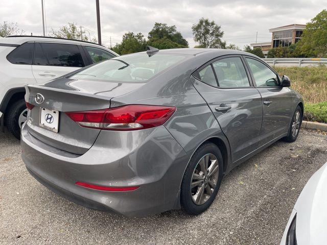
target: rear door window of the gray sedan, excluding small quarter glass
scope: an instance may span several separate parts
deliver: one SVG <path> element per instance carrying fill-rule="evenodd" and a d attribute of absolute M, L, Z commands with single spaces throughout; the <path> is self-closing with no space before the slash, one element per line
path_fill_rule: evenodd
<path fill-rule="evenodd" d="M 220 88 L 249 87 L 250 82 L 246 75 L 240 57 L 220 59 L 213 63 Z"/>

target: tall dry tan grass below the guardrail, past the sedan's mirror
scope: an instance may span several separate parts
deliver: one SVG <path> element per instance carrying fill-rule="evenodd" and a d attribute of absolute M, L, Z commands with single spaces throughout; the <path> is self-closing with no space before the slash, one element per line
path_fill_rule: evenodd
<path fill-rule="evenodd" d="M 279 75 L 291 79 L 291 88 L 302 94 L 305 103 L 327 101 L 327 66 L 279 67 Z"/>

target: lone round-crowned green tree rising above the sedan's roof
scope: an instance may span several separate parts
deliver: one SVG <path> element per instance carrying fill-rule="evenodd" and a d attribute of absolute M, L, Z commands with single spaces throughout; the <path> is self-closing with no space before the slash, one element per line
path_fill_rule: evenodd
<path fill-rule="evenodd" d="M 224 32 L 215 21 L 208 18 L 201 18 L 197 24 L 193 24 L 192 32 L 194 41 L 204 48 L 225 48 L 226 42 L 222 40 Z"/>

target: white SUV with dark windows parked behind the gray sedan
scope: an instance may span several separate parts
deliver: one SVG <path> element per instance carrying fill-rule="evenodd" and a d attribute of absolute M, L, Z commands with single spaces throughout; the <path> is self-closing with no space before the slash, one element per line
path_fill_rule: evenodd
<path fill-rule="evenodd" d="M 36 36 L 0 38 L 0 122 L 17 138 L 26 120 L 26 84 L 40 84 L 118 54 L 90 42 Z"/>

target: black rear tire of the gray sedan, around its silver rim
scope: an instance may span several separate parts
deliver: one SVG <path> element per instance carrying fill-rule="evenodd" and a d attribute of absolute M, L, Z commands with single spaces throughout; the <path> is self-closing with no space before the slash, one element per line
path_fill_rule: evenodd
<path fill-rule="evenodd" d="M 200 187 L 194 187 L 191 188 L 191 183 L 193 179 L 193 174 L 195 173 L 196 168 L 198 168 L 199 161 L 206 155 L 214 155 L 218 159 L 218 170 L 219 173 L 216 173 L 215 179 L 216 179 L 216 187 L 212 188 L 212 194 L 207 197 L 207 200 L 203 204 L 196 204 L 193 197 L 195 197 L 194 194 L 194 188 L 200 188 Z M 211 155 L 211 156 L 212 156 Z M 208 169 L 208 168 L 207 168 Z M 197 215 L 202 212 L 204 212 L 215 200 L 217 192 L 219 190 L 221 180 L 223 178 L 223 158 L 221 155 L 221 152 L 217 145 L 213 143 L 204 143 L 200 146 L 198 150 L 193 154 L 188 166 L 185 169 L 185 173 L 182 179 L 181 184 L 181 191 L 180 191 L 180 201 L 181 201 L 181 207 L 182 209 L 191 215 Z M 205 183 L 205 181 L 203 181 Z M 208 183 L 208 182 L 207 182 Z M 209 184 L 207 184 L 209 185 Z M 204 188 L 204 187 L 203 187 Z M 211 188 L 211 187 L 209 187 Z M 206 190 L 206 188 L 204 188 Z M 192 192 L 193 191 L 193 192 Z"/>

